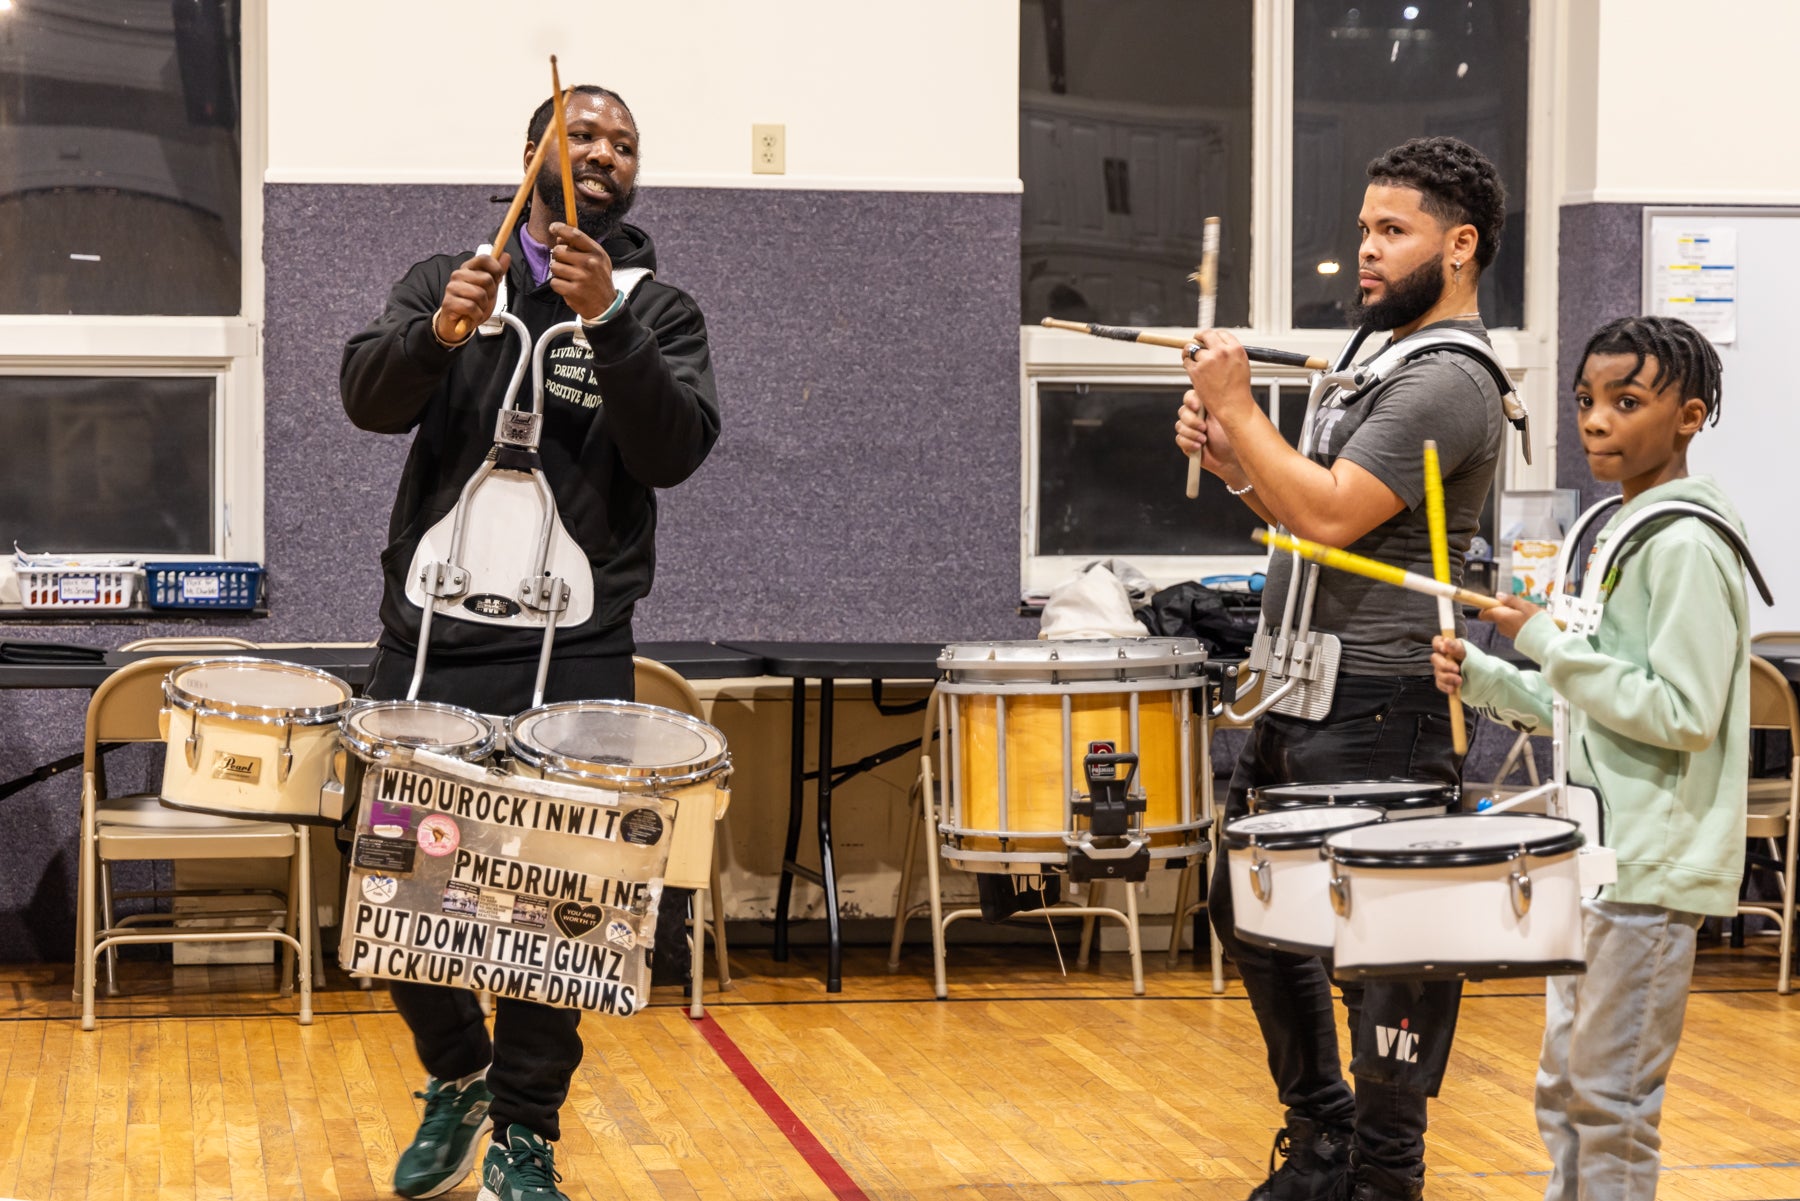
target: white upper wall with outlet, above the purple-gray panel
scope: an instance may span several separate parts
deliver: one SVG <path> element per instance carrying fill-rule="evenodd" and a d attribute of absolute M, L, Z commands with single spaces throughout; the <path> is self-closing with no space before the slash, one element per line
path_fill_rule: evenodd
<path fill-rule="evenodd" d="M 268 0 L 266 178 L 513 182 L 553 52 L 632 104 L 646 184 L 1019 187 L 1017 0 Z"/>

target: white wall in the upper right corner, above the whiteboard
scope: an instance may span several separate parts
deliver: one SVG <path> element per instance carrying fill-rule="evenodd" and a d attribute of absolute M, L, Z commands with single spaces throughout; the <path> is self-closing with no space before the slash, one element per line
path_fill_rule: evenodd
<path fill-rule="evenodd" d="M 1800 4 L 1570 4 L 1566 203 L 1800 202 Z"/>

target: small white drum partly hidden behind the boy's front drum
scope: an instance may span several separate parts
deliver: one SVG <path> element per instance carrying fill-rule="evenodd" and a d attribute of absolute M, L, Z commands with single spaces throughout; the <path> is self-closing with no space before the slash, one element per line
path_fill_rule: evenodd
<path fill-rule="evenodd" d="M 1373 805 L 1298 805 L 1226 823 L 1238 938 L 1298 954 L 1332 953 L 1328 834 L 1382 821 Z"/>

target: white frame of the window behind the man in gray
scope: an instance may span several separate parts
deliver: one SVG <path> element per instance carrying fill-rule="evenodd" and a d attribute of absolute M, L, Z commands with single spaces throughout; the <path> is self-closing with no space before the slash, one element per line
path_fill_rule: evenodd
<path fill-rule="evenodd" d="M 1510 225 L 1508 236 L 1523 236 L 1525 248 L 1525 326 L 1490 330 L 1494 349 L 1507 364 L 1519 389 L 1519 398 L 1532 411 L 1532 463 L 1525 461 L 1519 439 L 1507 434 L 1501 456 L 1499 486 L 1507 490 L 1541 490 L 1555 486 L 1557 461 L 1557 198 L 1562 164 L 1557 149 L 1561 131 L 1553 124 L 1555 95 L 1566 92 L 1566 65 L 1559 54 L 1564 43 L 1561 25 L 1564 5 L 1550 0 L 1532 4 L 1532 32 L 1528 56 L 1526 115 L 1526 185 L 1525 225 Z M 1296 330 L 1292 326 L 1292 281 L 1287 256 L 1292 241 L 1292 175 L 1294 175 L 1294 0 L 1265 0 L 1256 5 L 1253 27 L 1251 70 L 1251 230 L 1249 230 L 1249 312 L 1251 324 L 1235 328 L 1246 342 L 1278 346 L 1321 358 L 1334 357 L 1348 339 L 1339 330 Z M 1159 333 L 1183 335 L 1186 330 L 1161 328 Z M 1037 479 L 1037 441 L 1033 429 L 1033 396 L 1039 382 L 1102 378 L 1130 384 L 1161 384 L 1179 387 L 1184 380 L 1175 351 L 1132 342 L 1084 339 L 1039 326 L 1019 328 L 1019 384 L 1021 384 L 1021 479 L 1024 504 L 1021 506 L 1019 578 L 1024 592 L 1031 582 L 1062 578 L 1071 567 L 1053 556 L 1033 555 L 1033 481 Z M 1287 391 L 1296 382 L 1305 385 L 1305 373 L 1274 367 L 1256 367 L 1258 382 L 1280 382 Z M 1170 454 L 1175 454 L 1170 436 Z M 1249 513 L 1249 510 L 1246 510 Z M 1251 519 L 1255 520 L 1255 519 Z M 1138 564 L 1157 585 L 1177 583 L 1202 574 L 1231 574 L 1255 562 L 1260 569 L 1264 555 L 1246 556 L 1179 556 Z M 1062 574 L 1053 574 L 1062 569 Z M 1044 589 L 1039 587 L 1039 592 Z"/>

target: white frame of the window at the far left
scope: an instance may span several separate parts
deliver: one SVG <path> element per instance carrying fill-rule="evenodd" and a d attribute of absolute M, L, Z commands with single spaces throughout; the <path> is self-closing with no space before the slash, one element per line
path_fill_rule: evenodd
<path fill-rule="evenodd" d="M 214 376 L 212 547 L 193 560 L 265 560 L 263 173 L 268 164 L 266 0 L 241 0 L 241 303 L 232 317 L 0 313 L 0 375 Z M 29 547 L 58 553 L 58 547 Z M 70 558 L 171 558 L 142 547 Z"/>

